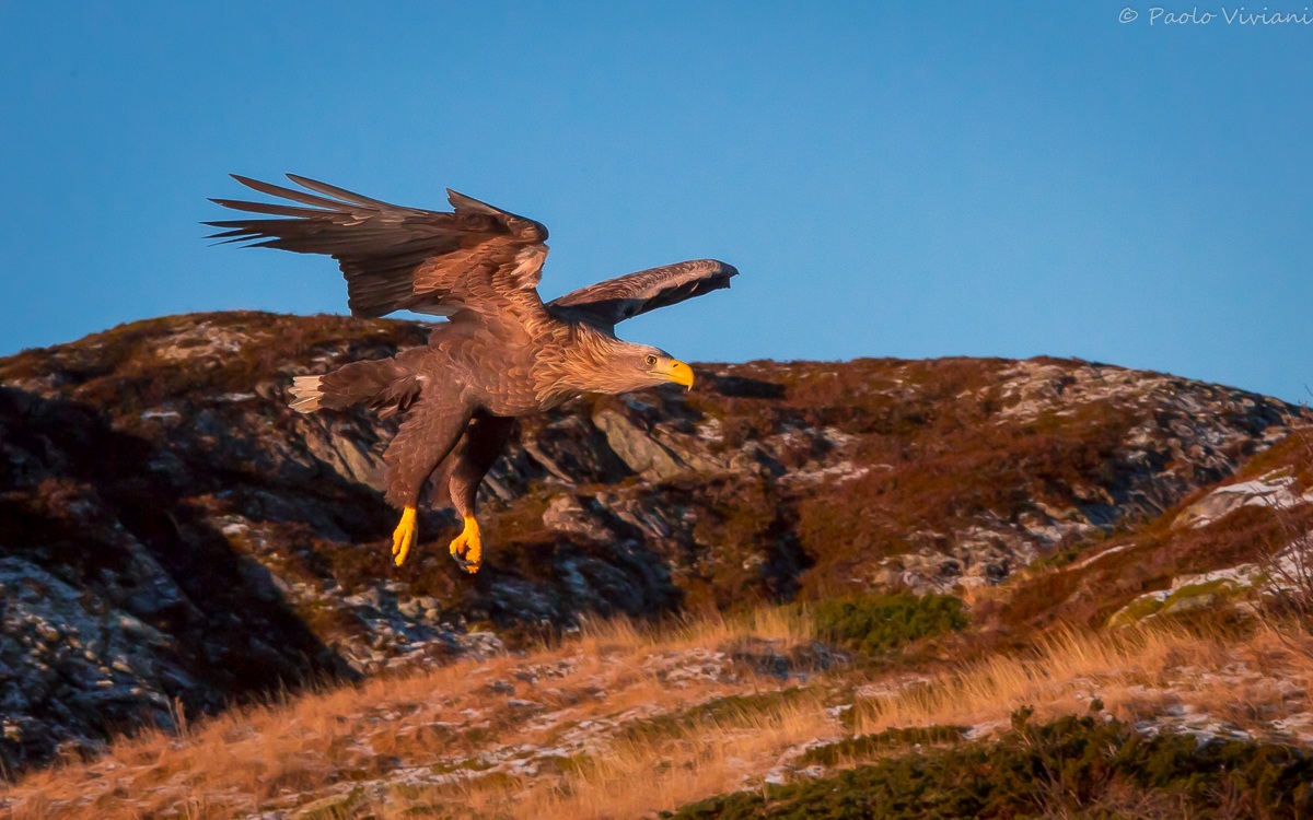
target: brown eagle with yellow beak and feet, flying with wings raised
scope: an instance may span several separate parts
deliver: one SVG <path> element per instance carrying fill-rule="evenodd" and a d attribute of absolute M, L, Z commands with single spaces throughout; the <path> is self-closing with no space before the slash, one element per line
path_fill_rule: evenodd
<path fill-rule="evenodd" d="M 733 265 L 692 260 L 607 279 L 544 303 L 538 295 L 548 228 L 448 189 L 450 211 L 390 205 L 288 174 L 303 190 L 232 178 L 281 202 L 211 199 L 259 214 L 205 222 L 218 244 L 323 253 L 347 279 L 352 316 L 394 311 L 445 316 L 428 345 L 293 379 L 291 409 L 365 405 L 403 420 L 387 450 L 387 501 L 400 510 L 393 560 L 416 543 L 416 509 L 429 479 L 435 500 L 463 529 L 452 558 L 470 573 L 483 560 L 475 501 L 515 420 L 583 394 L 624 394 L 663 383 L 692 390 L 693 370 L 670 353 L 616 337 L 616 324 L 729 287 Z"/>

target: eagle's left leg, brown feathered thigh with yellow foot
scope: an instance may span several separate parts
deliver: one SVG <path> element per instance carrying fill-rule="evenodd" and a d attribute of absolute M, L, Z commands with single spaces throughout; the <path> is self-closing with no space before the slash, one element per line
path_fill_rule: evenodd
<path fill-rule="evenodd" d="M 402 520 L 393 531 L 393 563 L 398 567 L 406 563 L 418 541 L 415 518 L 420 491 L 433 470 L 456 447 L 470 420 L 470 409 L 445 399 L 421 398 L 383 453 L 387 463 L 387 500 L 402 508 Z"/>

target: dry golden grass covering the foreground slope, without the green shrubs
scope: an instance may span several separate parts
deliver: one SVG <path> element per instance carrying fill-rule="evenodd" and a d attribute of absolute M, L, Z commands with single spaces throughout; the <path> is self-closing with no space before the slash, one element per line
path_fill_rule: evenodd
<path fill-rule="evenodd" d="M 312 803 L 319 816 L 343 817 L 651 816 L 760 785 L 805 744 L 844 733 L 827 712 L 834 686 L 785 697 L 772 694 L 783 686 L 775 678 L 725 673 L 723 649 L 747 639 L 784 648 L 810 640 L 811 627 L 792 609 L 662 627 L 590 623 L 520 656 L 234 710 L 183 736 L 143 732 L 97 761 L 32 774 L 0 800 L 14 820 L 219 819 Z M 859 733 L 1006 726 L 1020 706 L 1044 719 L 1083 712 L 1094 697 L 1127 720 L 1182 703 L 1258 731 L 1309 711 L 1313 636 L 1057 631 L 1024 656 L 949 666 L 911 686 L 898 676 L 874 684 L 890 694 L 859 699 Z M 689 711 L 726 695 L 747 706 Z M 369 787 L 335 804 L 357 785 Z"/>

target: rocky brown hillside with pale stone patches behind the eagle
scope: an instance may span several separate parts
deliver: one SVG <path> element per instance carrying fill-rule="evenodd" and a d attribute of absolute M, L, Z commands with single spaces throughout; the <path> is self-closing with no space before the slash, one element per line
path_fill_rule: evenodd
<path fill-rule="evenodd" d="M 586 613 L 897 588 L 979 597 L 1001 635 L 1107 618 L 1169 589 L 1179 562 L 1092 586 L 1082 560 L 1195 555 L 1221 508 L 1190 508 L 1199 527 L 1167 518 L 1257 454 L 1280 461 L 1272 445 L 1309 419 L 1079 361 L 705 365 L 687 395 L 525 420 L 484 485 L 470 577 L 446 555 L 449 513 L 421 516 L 403 568 L 387 560 L 395 421 L 286 407 L 293 375 L 420 344 L 411 323 L 234 312 L 0 359 L 7 770 L 324 676 L 496 652 Z M 1253 479 L 1313 484 L 1280 468 Z M 1228 538 L 1200 571 L 1262 541 Z"/>

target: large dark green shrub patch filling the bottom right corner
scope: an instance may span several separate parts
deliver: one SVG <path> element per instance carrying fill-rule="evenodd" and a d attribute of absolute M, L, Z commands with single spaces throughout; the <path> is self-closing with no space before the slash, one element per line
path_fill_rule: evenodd
<path fill-rule="evenodd" d="M 1305 817 L 1313 752 L 1254 741 L 1200 745 L 1190 735 L 1145 737 L 1099 716 L 1028 724 L 999 740 L 878 760 L 835 777 L 692 803 L 676 820 L 910 817 Z M 1136 815 L 1142 816 L 1142 815 Z"/>

